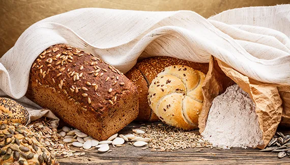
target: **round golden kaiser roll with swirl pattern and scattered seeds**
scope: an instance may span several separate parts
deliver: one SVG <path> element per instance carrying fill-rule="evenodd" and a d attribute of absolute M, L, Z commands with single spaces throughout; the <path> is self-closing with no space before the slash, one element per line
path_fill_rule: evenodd
<path fill-rule="evenodd" d="M 154 113 L 168 125 L 195 129 L 204 97 L 205 74 L 185 65 L 165 68 L 153 79 L 148 100 Z"/>

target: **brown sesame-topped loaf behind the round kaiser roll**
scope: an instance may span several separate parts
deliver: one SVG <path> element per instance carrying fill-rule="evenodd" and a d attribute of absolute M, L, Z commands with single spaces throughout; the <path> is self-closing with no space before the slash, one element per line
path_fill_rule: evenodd
<path fill-rule="evenodd" d="M 153 57 L 138 62 L 126 76 L 136 85 L 139 95 L 139 115 L 138 121 L 157 121 L 159 118 L 151 110 L 148 103 L 148 88 L 152 80 L 164 68 L 171 65 L 185 65 L 192 69 L 207 74 L 208 63 L 196 63 L 172 57 Z"/>

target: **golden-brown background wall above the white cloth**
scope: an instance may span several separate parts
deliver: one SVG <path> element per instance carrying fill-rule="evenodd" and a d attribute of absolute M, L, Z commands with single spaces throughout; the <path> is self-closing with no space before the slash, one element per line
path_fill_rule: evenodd
<path fill-rule="evenodd" d="M 22 32 L 33 23 L 78 8 L 192 10 L 201 16 L 210 17 L 228 9 L 288 3 L 290 0 L 0 0 L 0 56 L 8 51 Z"/>

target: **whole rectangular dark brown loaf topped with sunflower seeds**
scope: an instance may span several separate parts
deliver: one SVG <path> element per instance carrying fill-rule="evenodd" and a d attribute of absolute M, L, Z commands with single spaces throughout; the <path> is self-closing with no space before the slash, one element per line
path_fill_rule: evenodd
<path fill-rule="evenodd" d="M 97 140 L 106 140 L 138 115 L 136 87 L 123 73 L 67 45 L 39 55 L 26 96 Z"/>

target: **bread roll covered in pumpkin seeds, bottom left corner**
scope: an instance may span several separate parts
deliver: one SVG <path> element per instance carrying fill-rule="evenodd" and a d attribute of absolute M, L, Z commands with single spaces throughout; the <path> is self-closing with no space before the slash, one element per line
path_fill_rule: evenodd
<path fill-rule="evenodd" d="M 19 123 L 0 124 L 0 164 L 59 164 L 32 132 Z"/>

